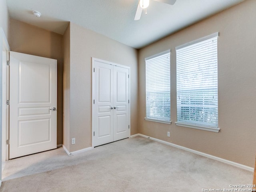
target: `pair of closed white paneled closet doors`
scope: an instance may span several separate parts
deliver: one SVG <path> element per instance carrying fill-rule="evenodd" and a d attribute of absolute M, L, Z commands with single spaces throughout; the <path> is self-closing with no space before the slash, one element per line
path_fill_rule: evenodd
<path fill-rule="evenodd" d="M 129 69 L 94 60 L 94 146 L 130 136 Z"/>

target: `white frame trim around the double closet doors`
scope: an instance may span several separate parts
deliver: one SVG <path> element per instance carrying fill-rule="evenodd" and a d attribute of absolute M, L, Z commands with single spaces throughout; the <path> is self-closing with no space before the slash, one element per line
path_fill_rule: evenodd
<path fill-rule="evenodd" d="M 121 64 L 116 64 L 114 62 L 110 62 L 110 61 L 106 61 L 106 60 L 102 60 L 102 59 L 98 59 L 98 58 L 94 58 L 92 57 L 92 148 L 94 148 L 94 62 L 102 62 L 104 64 L 108 64 L 108 65 L 113 65 L 113 66 L 118 66 L 118 67 L 122 67 L 122 68 L 126 68 L 129 70 L 129 78 L 128 78 L 128 81 L 129 81 L 129 87 L 128 87 L 128 94 L 129 94 L 129 98 L 128 100 L 130 101 L 130 67 L 129 66 L 125 66 L 125 65 L 121 65 Z M 129 105 L 129 112 L 128 112 L 128 122 L 129 122 L 129 125 L 131 124 L 131 115 L 130 115 L 130 112 L 131 112 L 131 106 L 130 106 L 130 102 L 128 103 Z M 131 126 L 130 126 L 130 129 L 129 129 L 129 136 L 131 135 Z"/>

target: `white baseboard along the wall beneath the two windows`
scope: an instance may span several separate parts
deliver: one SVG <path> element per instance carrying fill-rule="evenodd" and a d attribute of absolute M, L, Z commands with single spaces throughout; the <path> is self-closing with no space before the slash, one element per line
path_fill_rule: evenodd
<path fill-rule="evenodd" d="M 180 146 L 180 145 L 176 145 L 176 144 L 173 144 L 173 143 L 170 143 L 170 142 L 166 142 L 166 141 L 163 141 L 163 140 L 160 140 L 160 139 L 149 137 L 149 136 L 146 136 L 146 135 L 143 135 L 143 134 L 136 134 L 136 136 L 142 136 L 144 138 L 148 138 L 148 139 L 151 139 L 151 140 L 154 140 L 154 141 L 158 141 L 160 143 L 164 143 L 164 144 L 167 144 L 167 145 L 179 148 L 179 149 L 186 150 L 188 152 L 192 152 L 194 154 L 198 154 L 198 155 L 201 155 L 201 156 L 213 159 L 213 160 L 217 160 L 217 161 L 220 161 L 220 162 L 223 162 L 223 163 L 226 163 L 226 164 L 230 164 L 232 166 L 236 166 L 236 167 L 244 169 L 244 170 L 248 170 L 248 171 L 251 171 L 251 172 L 254 171 L 253 167 L 249 167 L 249 166 L 246 166 L 246 165 L 243 165 L 243 164 L 239 164 L 239 163 L 236 163 L 236 162 L 233 162 L 233 161 L 229 161 L 229 160 L 222 159 L 222 158 L 219 158 L 219 157 L 216 157 L 216 156 L 212 156 L 212 155 L 200 152 L 200 151 L 196 151 L 196 150 L 193 150 L 193 149 L 190 149 L 190 148 L 186 148 L 186 147 L 183 147 L 183 146 Z"/>

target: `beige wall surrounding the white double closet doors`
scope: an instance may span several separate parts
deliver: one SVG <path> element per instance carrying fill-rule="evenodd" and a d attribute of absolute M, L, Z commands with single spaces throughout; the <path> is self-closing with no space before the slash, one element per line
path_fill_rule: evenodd
<path fill-rule="evenodd" d="M 70 23 L 70 152 L 92 146 L 92 57 L 130 66 L 131 135 L 138 133 L 137 50 Z M 76 144 L 71 145 L 71 138 Z"/>

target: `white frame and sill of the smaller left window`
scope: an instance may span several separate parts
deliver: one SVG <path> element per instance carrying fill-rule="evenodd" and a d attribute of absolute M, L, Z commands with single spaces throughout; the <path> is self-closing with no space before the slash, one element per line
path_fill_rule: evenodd
<path fill-rule="evenodd" d="M 146 74 L 146 65 L 147 65 L 147 63 L 146 62 L 147 62 L 147 60 L 150 60 L 150 59 L 162 56 L 164 54 L 169 54 L 169 62 L 168 62 L 169 74 L 168 75 L 169 75 L 169 96 L 171 97 L 171 94 L 170 94 L 170 92 L 171 92 L 171 90 L 170 90 L 170 80 L 171 80 L 171 78 L 170 78 L 170 58 L 171 58 L 171 50 L 166 50 L 164 52 L 160 52 L 158 54 L 155 54 L 153 56 L 145 58 L 146 117 L 144 119 L 147 120 L 147 121 L 151 121 L 151 122 L 159 122 L 159 123 L 164 123 L 164 124 L 171 124 L 171 98 L 170 97 L 169 97 L 169 101 L 170 101 L 170 103 L 169 103 L 170 104 L 170 108 L 169 108 L 170 109 L 170 120 L 162 120 L 162 119 L 152 118 L 152 117 L 147 116 L 147 86 L 146 86 L 146 83 L 147 83 L 147 79 L 146 79 L 146 76 L 147 76 L 147 74 Z"/>

